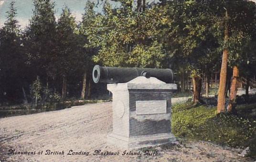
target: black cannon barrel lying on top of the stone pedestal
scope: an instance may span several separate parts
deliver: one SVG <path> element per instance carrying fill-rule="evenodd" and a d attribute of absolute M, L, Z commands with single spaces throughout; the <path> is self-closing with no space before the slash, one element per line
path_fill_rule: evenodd
<path fill-rule="evenodd" d="M 174 76 L 171 69 L 137 67 L 100 67 L 93 68 L 95 83 L 126 83 L 138 76 L 156 77 L 165 83 L 172 83 Z"/>

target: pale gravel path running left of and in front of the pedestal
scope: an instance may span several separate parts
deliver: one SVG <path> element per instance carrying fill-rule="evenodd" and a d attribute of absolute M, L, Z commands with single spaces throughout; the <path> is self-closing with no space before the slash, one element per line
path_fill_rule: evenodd
<path fill-rule="evenodd" d="M 238 156 L 240 150 L 206 142 L 190 142 L 154 148 L 160 155 L 121 155 L 106 143 L 111 132 L 111 103 L 74 106 L 69 109 L 0 119 L 0 161 L 7 162 L 253 162 Z M 30 155 L 8 155 L 15 152 L 35 152 Z M 64 151 L 64 155 L 45 155 L 46 150 Z M 90 155 L 67 155 L 90 152 Z M 120 152 L 119 155 L 93 155 Z M 43 154 L 38 155 L 38 152 Z M 130 150 L 127 150 L 129 152 Z M 142 150 L 140 150 L 143 152 Z M 133 150 L 138 152 L 138 150 Z M 144 152 L 143 152 L 144 153 Z"/>

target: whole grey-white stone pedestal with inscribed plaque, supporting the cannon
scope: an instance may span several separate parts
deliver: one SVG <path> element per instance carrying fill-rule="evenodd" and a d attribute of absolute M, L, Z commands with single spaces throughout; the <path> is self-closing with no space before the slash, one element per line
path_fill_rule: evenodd
<path fill-rule="evenodd" d="M 107 143 L 140 148 L 175 141 L 171 133 L 171 94 L 176 84 L 139 76 L 128 83 L 108 84 L 113 94 L 113 131 Z"/>

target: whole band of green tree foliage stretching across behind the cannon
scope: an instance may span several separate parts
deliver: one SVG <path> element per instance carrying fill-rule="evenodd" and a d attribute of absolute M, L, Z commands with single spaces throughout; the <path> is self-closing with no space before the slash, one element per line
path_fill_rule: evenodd
<path fill-rule="evenodd" d="M 30 100 L 28 93 L 36 76 L 41 78 L 42 101 L 49 101 L 50 96 L 58 100 L 63 78 L 67 79 L 68 97 L 77 96 L 85 73 L 84 85 L 90 85 L 94 64 L 172 68 L 183 79 L 189 75 L 203 79 L 202 73 L 209 75 L 220 67 L 224 48 L 230 51 L 229 66 L 239 64 L 242 75 L 253 74 L 255 3 L 163 0 L 147 4 L 141 11 L 133 0 L 116 1 L 121 3 L 119 8 L 113 8 L 107 0 L 102 2 L 100 13 L 94 1 L 86 1 L 82 21 L 77 23 L 67 6 L 56 20 L 53 1 L 33 0 L 33 15 L 24 30 L 15 19 L 17 11 L 11 2 L 0 29 L 1 102 L 24 100 L 26 96 Z M 230 29 L 226 43 L 225 22 Z"/>

